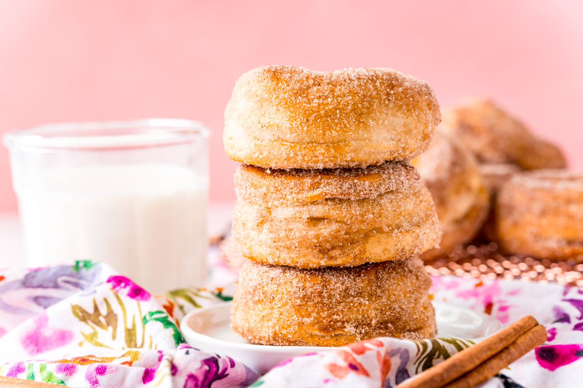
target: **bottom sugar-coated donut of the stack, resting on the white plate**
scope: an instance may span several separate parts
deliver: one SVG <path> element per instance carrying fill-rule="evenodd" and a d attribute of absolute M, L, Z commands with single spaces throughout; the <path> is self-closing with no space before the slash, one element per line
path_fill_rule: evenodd
<path fill-rule="evenodd" d="M 246 261 L 231 328 L 252 343 L 283 346 L 430 338 L 436 334 L 430 285 L 419 258 L 320 269 Z"/>

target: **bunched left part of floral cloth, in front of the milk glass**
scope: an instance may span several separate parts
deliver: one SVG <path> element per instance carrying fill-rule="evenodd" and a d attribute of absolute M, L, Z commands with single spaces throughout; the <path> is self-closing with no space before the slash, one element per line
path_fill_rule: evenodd
<path fill-rule="evenodd" d="M 224 300 L 153 297 L 89 261 L 0 270 L 0 375 L 70 387 L 247 387 L 258 373 L 184 343 L 177 317 Z"/>

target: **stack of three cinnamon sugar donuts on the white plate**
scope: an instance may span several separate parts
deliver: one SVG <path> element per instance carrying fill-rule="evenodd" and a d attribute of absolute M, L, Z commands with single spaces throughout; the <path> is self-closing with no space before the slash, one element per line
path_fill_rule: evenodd
<path fill-rule="evenodd" d="M 237 80 L 223 133 L 243 163 L 234 332 L 296 346 L 436 334 L 418 255 L 441 230 L 408 160 L 439 122 L 431 88 L 391 69 L 268 66 Z"/>

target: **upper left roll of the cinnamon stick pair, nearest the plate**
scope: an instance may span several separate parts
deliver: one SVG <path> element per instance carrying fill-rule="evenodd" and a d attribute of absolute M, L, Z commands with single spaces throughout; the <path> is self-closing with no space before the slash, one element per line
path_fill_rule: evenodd
<path fill-rule="evenodd" d="M 532 315 L 526 315 L 507 326 L 507 328 L 500 330 L 500 332 L 452 355 L 441 364 L 427 369 L 427 371 L 415 376 L 415 378 L 405 380 L 395 388 L 443 387 L 500 353 L 501 350 L 514 343 L 518 337 L 536 325 L 538 325 L 536 319 Z"/>

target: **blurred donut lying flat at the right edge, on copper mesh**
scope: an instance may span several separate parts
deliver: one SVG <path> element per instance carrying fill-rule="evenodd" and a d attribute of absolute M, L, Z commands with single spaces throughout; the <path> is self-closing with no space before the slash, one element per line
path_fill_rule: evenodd
<path fill-rule="evenodd" d="M 498 194 L 497 232 L 504 250 L 583 259 L 583 175 L 567 170 L 517 173 Z"/>

